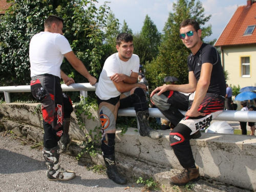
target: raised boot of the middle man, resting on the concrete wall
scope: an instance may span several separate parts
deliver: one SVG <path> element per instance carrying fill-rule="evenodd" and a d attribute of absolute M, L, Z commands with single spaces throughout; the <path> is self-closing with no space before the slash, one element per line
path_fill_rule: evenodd
<path fill-rule="evenodd" d="M 150 127 L 150 124 L 148 124 L 148 118 L 150 117 L 150 113 L 148 113 L 148 110 L 143 112 L 136 112 L 136 115 L 138 117 L 138 121 L 140 124 L 140 130 L 139 130 L 140 136 L 143 136 L 143 137 L 147 136 L 152 139 L 160 139 L 163 136 L 162 133 L 156 130 L 153 130 Z"/>

